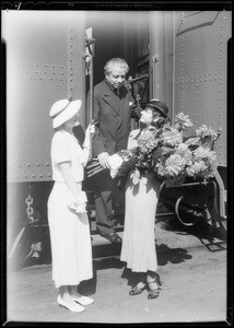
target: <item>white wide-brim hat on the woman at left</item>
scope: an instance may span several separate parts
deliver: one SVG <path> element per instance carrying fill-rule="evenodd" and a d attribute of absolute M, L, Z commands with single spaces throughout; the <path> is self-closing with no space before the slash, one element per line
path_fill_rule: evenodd
<path fill-rule="evenodd" d="M 62 126 L 66 121 L 71 119 L 73 116 L 78 115 L 81 108 L 81 101 L 68 101 L 61 99 L 57 101 L 50 112 L 49 116 L 52 118 L 54 129 Z"/>

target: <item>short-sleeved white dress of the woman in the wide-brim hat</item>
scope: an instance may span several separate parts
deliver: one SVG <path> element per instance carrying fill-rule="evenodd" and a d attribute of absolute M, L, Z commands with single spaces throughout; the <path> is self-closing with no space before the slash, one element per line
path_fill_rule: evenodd
<path fill-rule="evenodd" d="M 70 161 L 71 171 L 82 191 L 83 151 L 78 140 L 66 131 L 57 131 L 51 142 L 54 188 L 48 199 L 48 223 L 52 256 L 52 279 L 57 288 L 77 285 L 93 277 L 92 245 L 86 213 L 69 209 L 69 191 L 58 163 Z"/>

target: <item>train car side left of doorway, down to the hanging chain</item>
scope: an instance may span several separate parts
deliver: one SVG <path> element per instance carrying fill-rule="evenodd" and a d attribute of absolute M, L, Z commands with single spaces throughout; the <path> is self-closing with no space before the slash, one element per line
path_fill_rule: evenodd
<path fill-rule="evenodd" d="M 85 13 L 5 11 L 7 212 L 9 262 L 24 262 L 31 246 L 49 257 L 49 109 L 60 98 L 81 98 L 85 126 Z M 39 244 L 38 244 L 39 243 Z"/>

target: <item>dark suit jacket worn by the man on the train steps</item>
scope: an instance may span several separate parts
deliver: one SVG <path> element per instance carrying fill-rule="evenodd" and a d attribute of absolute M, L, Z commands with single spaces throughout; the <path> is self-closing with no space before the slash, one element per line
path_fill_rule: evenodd
<path fill-rule="evenodd" d="M 127 148 L 130 118 L 134 101 L 130 91 L 122 85 L 119 97 L 106 80 L 94 86 L 93 119 L 96 132 L 93 137 L 93 157 L 102 152 L 109 155 Z"/>

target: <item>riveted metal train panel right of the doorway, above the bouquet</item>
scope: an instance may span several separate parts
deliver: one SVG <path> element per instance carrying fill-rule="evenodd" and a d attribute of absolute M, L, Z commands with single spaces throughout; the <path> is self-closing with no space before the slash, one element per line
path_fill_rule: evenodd
<path fill-rule="evenodd" d="M 231 12 L 176 12 L 174 28 L 174 114 L 189 115 L 223 133 L 215 144 L 226 166 L 226 61 Z"/>

